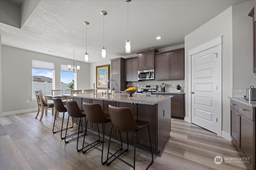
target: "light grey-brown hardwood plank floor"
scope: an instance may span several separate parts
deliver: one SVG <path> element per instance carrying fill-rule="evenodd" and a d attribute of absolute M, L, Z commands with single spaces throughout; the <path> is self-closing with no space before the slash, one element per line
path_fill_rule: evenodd
<path fill-rule="evenodd" d="M 0 125 L 0 170 L 128 170 L 126 164 L 115 160 L 102 166 L 101 153 L 91 149 L 76 151 L 76 141 L 64 143 L 60 133 L 52 133 L 54 117 L 49 113 L 42 121 L 34 119 L 36 112 L 3 117 Z M 62 113 L 57 118 L 61 125 Z M 67 120 L 67 113 L 65 114 Z M 154 156 L 151 170 L 245 170 L 243 163 L 214 163 L 214 157 L 239 157 L 232 143 L 194 124 L 180 119 L 171 120 L 171 139 L 161 157 Z M 64 123 L 65 124 L 65 123 Z M 77 131 L 77 126 L 69 132 Z M 91 136 L 91 137 L 90 137 Z M 88 132 L 92 139 L 93 133 Z M 88 139 L 87 138 L 87 139 Z M 81 143 L 82 145 L 81 138 Z M 105 147 L 107 147 L 106 142 Z M 118 144 L 115 143 L 117 146 Z M 100 146 L 101 147 L 101 146 Z M 104 148 L 105 148 L 104 147 Z M 126 145 L 124 146 L 124 148 Z M 129 146 L 129 148 L 132 147 Z M 114 148 L 112 148 L 114 149 Z M 122 158 L 132 162 L 132 151 Z M 104 154 L 105 155 L 105 154 Z M 150 154 L 136 150 L 136 169 L 145 169 Z"/>

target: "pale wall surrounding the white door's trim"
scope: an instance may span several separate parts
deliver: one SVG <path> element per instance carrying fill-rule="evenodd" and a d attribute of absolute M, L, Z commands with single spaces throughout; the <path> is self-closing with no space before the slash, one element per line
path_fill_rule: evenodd
<path fill-rule="evenodd" d="M 230 132 L 230 104 L 232 96 L 232 7 L 185 36 L 185 86 L 188 87 L 188 50 L 216 37 L 222 36 L 222 130 Z M 190 87 L 188 87 L 190 88 Z M 188 88 L 185 88 L 186 116 L 188 110 Z"/>

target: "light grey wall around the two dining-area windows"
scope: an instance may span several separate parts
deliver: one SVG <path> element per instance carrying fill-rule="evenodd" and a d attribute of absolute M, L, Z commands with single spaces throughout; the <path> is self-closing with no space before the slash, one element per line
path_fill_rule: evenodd
<path fill-rule="evenodd" d="M 60 64 L 72 64 L 72 60 L 36 53 L 2 45 L 2 112 L 24 113 L 37 108 L 32 101 L 32 59 L 55 63 L 55 88 L 60 89 Z M 90 88 L 90 64 L 75 61 L 80 65 L 77 73 L 77 89 Z M 18 83 L 17 83 L 18 82 Z M 19 86 L 17 86 L 19 84 Z M 30 103 L 26 104 L 26 100 Z"/>

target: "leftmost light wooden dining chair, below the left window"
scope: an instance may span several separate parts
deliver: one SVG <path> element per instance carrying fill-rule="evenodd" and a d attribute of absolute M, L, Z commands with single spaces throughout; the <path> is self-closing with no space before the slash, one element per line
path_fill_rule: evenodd
<path fill-rule="evenodd" d="M 35 94 L 36 94 L 36 102 L 37 102 L 37 105 L 38 105 L 38 111 L 36 113 L 36 117 L 35 119 L 38 117 L 38 114 L 40 112 L 40 109 L 42 109 L 41 111 L 41 116 L 40 116 L 40 119 L 39 121 L 42 120 L 43 118 L 43 115 L 44 115 L 44 109 L 48 109 L 48 108 L 52 108 L 52 115 L 53 115 L 53 109 L 54 109 L 54 104 L 51 103 L 51 104 L 48 104 L 44 98 L 43 98 L 43 95 L 42 95 L 42 90 L 35 90 Z M 47 113 L 46 113 L 47 114 Z"/>

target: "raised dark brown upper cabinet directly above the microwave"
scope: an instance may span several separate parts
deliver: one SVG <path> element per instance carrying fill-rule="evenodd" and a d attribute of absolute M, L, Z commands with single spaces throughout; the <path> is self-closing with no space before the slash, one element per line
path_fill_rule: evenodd
<path fill-rule="evenodd" d="M 141 51 L 138 54 L 138 70 L 150 70 L 155 67 L 155 53 L 157 49 L 151 49 L 148 51 Z"/>

